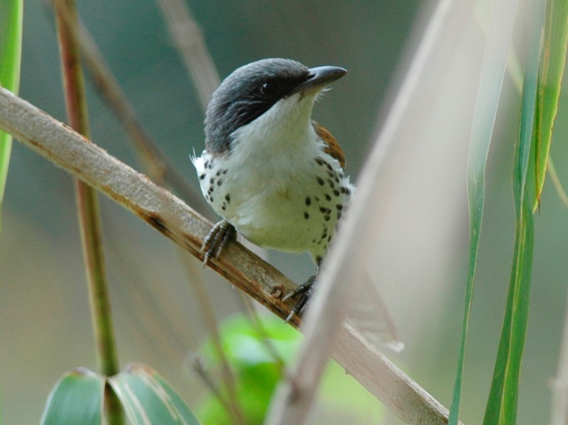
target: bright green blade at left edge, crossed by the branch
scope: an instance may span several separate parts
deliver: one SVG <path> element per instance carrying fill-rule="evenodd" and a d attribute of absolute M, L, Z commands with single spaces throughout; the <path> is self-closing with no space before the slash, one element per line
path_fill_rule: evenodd
<path fill-rule="evenodd" d="M 20 84 L 22 18 L 23 0 L 0 0 L 0 85 L 15 94 Z M 11 148 L 12 136 L 0 130 L 0 224 Z"/>

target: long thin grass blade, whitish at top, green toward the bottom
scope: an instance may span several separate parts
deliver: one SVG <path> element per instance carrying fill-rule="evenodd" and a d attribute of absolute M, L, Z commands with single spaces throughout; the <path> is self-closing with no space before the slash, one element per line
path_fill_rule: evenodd
<path fill-rule="evenodd" d="M 503 0 L 495 4 L 491 27 L 489 28 L 484 65 L 481 68 L 479 90 L 474 110 L 474 125 L 471 128 L 471 141 L 467 164 L 467 198 L 469 202 L 469 268 L 467 273 L 466 305 L 461 343 L 458 358 L 452 408 L 449 424 L 455 425 L 459 419 L 461 402 L 461 381 L 464 372 L 467 329 L 474 293 L 474 282 L 479 251 L 479 236 L 484 216 L 485 169 L 491 135 L 501 96 L 501 86 L 505 74 L 510 40 L 518 1 Z"/>

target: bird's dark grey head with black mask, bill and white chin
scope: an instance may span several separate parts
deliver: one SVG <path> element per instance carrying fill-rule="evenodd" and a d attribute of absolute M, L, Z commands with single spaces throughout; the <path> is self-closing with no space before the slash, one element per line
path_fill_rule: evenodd
<path fill-rule="evenodd" d="M 224 79 L 209 102 L 205 118 L 207 150 L 229 151 L 236 130 L 267 114 L 271 116 L 264 126 L 309 123 L 317 94 L 346 73 L 340 67 L 308 68 L 278 58 L 240 67 Z"/>

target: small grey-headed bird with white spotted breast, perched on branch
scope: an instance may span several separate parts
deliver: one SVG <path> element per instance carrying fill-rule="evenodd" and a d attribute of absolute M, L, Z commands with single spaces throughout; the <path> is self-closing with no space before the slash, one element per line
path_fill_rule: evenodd
<path fill-rule="evenodd" d="M 309 251 L 317 270 L 354 187 L 333 136 L 312 121 L 324 89 L 347 73 L 308 69 L 294 60 L 244 65 L 214 92 L 205 118 L 205 150 L 192 162 L 201 189 L 222 216 L 204 239 L 204 263 L 239 231 L 263 248 Z M 301 314 L 316 274 L 288 294 Z"/>

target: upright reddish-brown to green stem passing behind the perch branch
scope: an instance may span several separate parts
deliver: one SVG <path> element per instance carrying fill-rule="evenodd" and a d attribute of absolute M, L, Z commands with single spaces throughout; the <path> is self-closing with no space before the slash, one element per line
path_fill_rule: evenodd
<path fill-rule="evenodd" d="M 71 19 L 66 20 L 62 16 Z M 79 48 L 70 36 L 69 21 L 77 19 L 75 0 L 55 1 L 58 38 L 65 87 L 65 104 L 70 126 L 89 137 L 87 99 Z M 75 180 L 75 197 L 81 230 L 83 259 L 89 286 L 94 338 L 97 346 L 99 371 L 106 376 L 119 372 L 114 329 L 112 327 L 109 291 L 102 250 L 102 226 L 97 192 L 84 182 Z M 112 391 L 105 391 L 105 409 L 109 424 L 124 424 L 119 400 Z"/>

